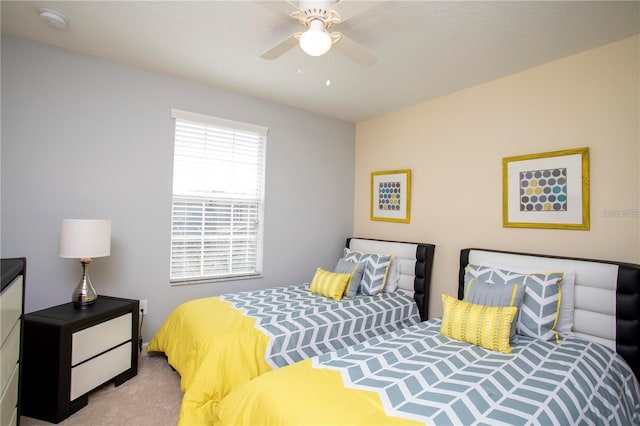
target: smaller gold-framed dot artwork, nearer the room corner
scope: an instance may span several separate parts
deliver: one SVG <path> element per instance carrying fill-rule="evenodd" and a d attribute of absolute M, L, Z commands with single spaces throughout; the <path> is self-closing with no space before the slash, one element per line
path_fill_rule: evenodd
<path fill-rule="evenodd" d="M 371 173 L 371 220 L 409 223 L 411 170 Z"/>

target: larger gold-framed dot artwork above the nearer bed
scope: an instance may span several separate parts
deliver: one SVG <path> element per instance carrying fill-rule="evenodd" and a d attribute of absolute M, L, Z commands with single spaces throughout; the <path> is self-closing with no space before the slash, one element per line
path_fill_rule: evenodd
<path fill-rule="evenodd" d="M 502 159 L 502 225 L 589 230 L 589 148 Z"/>

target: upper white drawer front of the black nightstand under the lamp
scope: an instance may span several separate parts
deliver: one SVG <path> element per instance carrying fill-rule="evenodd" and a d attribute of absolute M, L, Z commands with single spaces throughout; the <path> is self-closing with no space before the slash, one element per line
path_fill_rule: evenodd
<path fill-rule="evenodd" d="M 74 366 L 131 340 L 131 321 L 129 313 L 73 333 L 71 365 Z"/>

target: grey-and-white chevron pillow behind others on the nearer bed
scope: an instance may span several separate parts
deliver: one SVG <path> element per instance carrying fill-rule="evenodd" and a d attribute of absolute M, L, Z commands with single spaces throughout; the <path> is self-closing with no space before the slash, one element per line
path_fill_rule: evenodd
<path fill-rule="evenodd" d="M 520 273 L 490 266 L 467 265 L 465 288 L 471 279 L 492 283 L 518 283 L 525 287 L 516 317 L 516 333 L 542 340 L 557 340 L 556 325 L 560 307 L 560 281 L 563 272 Z"/>

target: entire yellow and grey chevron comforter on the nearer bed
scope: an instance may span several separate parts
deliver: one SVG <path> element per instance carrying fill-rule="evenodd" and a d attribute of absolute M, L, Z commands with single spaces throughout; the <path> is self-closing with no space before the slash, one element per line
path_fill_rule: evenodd
<path fill-rule="evenodd" d="M 598 343 L 520 337 L 512 354 L 440 334 L 440 319 L 281 368 L 214 411 L 224 425 L 639 425 L 640 386 Z"/>

